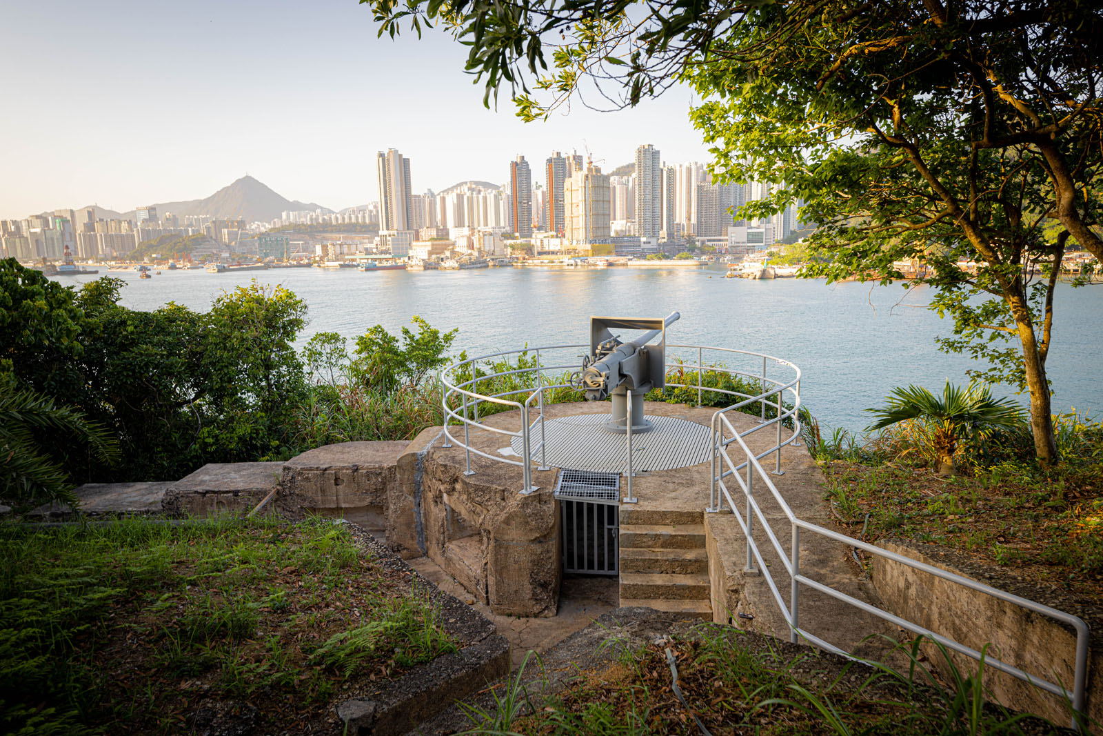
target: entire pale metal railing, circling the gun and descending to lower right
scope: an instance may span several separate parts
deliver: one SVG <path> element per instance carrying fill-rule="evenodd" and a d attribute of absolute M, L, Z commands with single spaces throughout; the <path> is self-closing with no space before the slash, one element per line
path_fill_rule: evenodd
<path fill-rule="evenodd" d="M 789 503 L 781 495 L 781 493 L 778 492 L 778 489 L 770 479 L 770 476 L 781 476 L 784 473 L 781 468 L 782 448 L 788 445 L 800 444 L 801 371 L 796 365 L 772 355 L 732 350 L 728 348 L 678 344 L 667 344 L 666 348 L 667 359 L 675 358 L 675 360 L 667 360 L 666 362 L 667 387 L 696 390 L 698 405 L 703 405 L 704 396 L 708 392 L 733 396 L 738 399 L 735 404 L 721 408 L 713 415 L 711 480 L 709 484 L 709 504 L 706 511 L 709 513 L 719 512 L 721 510 L 720 504 L 722 501 L 735 514 L 735 518 L 742 529 L 747 541 L 746 568 L 748 572 L 763 575 L 774 601 L 790 627 L 791 641 L 796 642 L 800 639 L 804 639 L 828 651 L 844 657 L 850 657 L 849 653 L 843 651 L 838 647 L 835 647 L 831 642 L 816 637 L 806 629 L 801 628 L 800 593 L 801 586 L 806 586 L 813 590 L 817 590 L 824 595 L 848 604 L 859 610 L 877 616 L 886 621 L 899 626 L 904 630 L 911 631 L 912 633 L 925 636 L 946 647 L 949 650 L 965 654 L 975 660 L 984 658 L 986 666 L 990 666 L 999 672 L 1024 680 L 1046 692 L 1061 697 L 1069 697 L 1068 689 L 1060 683 L 1051 683 L 1042 678 L 1034 676 L 1019 668 L 1003 662 L 1002 660 L 990 658 L 986 653 L 983 654 L 976 649 L 931 631 L 918 623 L 908 621 L 907 619 L 890 614 L 889 611 L 877 608 L 876 606 L 872 606 L 864 600 L 859 600 L 854 596 L 836 590 L 831 586 L 803 574 L 801 572 L 800 536 L 801 530 L 804 530 L 806 533 L 818 534 L 826 538 L 863 550 L 871 555 L 877 555 L 886 559 L 907 565 L 914 569 L 934 575 L 941 579 L 993 596 L 999 600 L 1020 606 L 1071 626 L 1077 633 L 1077 655 L 1071 703 L 1075 713 L 1084 713 L 1088 697 L 1089 629 L 1083 619 L 1043 604 L 1022 598 L 1021 596 L 1016 596 L 983 583 L 977 583 L 976 580 L 972 580 L 967 577 L 933 567 L 904 555 L 889 552 L 888 550 L 878 547 L 867 542 L 852 538 L 834 530 L 799 519 L 793 513 Z M 474 452 L 478 456 L 495 462 L 521 466 L 523 469 L 523 487 L 521 489 L 521 493 L 527 494 L 537 490 L 533 486 L 532 480 L 532 463 L 536 461 L 537 456 L 539 458 L 538 469 L 548 469 L 546 461 L 546 435 L 544 431 L 544 406 L 546 404 L 545 393 L 554 390 L 572 388 L 570 383 L 559 380 L 564 377 L 564 372 L 578 369 L 578 359 L 580 358 L 578 354 L 579 351 L 582 351 L 583 353 L 588 352 L 589 345 L 549 345 L 544 348 L 503 351 L 461 361 L 449 365 L 440 372 L 440 380 L 443 384 L 442 405 L 445 412 L 445 446 L 451 447 L 452 442 L 454 442 L 464 449 L 467 456 L 467 469 L 464 474 L 473 474 L 475 472 L 471 466 L 471 454 Z M 570 355 L 565 355 L 565 353 L 568 352 Z M 550 361 L 550 364 L 545 365 L 544 360 L 549 354 L 553 354 L 556 358 Z M 514 367 L 510 364 L 511 358 L 525 358 L 526 360 L 529 360 L 529 355 L 533 361 L 529 366 Z M 500 360 L 504 366 L 506 366 L 505 370 L 478 375 L 478 370 L 480 367 L 486 367 L 486 361 L 494 359 Z M 753 370 L 737 370 L 721 364 L 706 364 L 707 361 L 720 359 L 754 361 L 756 364 Z M 760 364 L 759 361 L 761 362 Z M 518 360 L 517 362 L 520 363 L 521 361 Z M 783 378 L 768 375 L 768 367 L 771 364 L 782 366 L 782 369 L 786 371 L 786 375 Z M 759 365 L 761 365 L 760 370 Z M 757 386 L 758 393 L 743 393 L 720 386 L 706 386 L 704 385 L 706 372 L 714 375 L 727 374 L 733 378 L 743 378 L 750 382 L 751 386 Z M 488 386 L 491 385 L 491 382 L 508 378 L 510 376 L 521 376 L 517 381 L 522 385 L 493 394 L 479 393 L 480 382 L 483 382 L 483 385 Z M 693 381 L 694 377 L 696 377 L 696 382 Z M 524 396 L 523 401 L 521 401 L 522 396 Z M 628 406 L 629 417 L 632 416 L 631 402 L 632 397 L 630 395 Z M 512 431 L 481 422 L 479 407 L 480 405 L 485 404 L 508 406 L 511 408 L 518 409 L 522 418 L 521 429 L 518 431 Z M 754 406 L 756 404 L 758 404 L 759 408 L 758 423 L 750 429 L 741 433 L 738 431 L 731 423 L 730 414 L 732 412 L 746 412 L 748 407 Z M 531 413 L 533 410 L 538 412 L 538 416 L 535 420 L 529 422 Z M 772 414 L 772 416 L 768 417 L 770 414 Z M 629 420 L 629 429 L 625 436 L 624 476 L 627 497 L 622 499 L 622 501 L 627 503 L 633 503 L 635 501 L 635 497 L 632 491 L 633 471 L 631 424 L 631 420 Z M 458 425 L 463 428 L 462 439 L 460 439 L 460 437 L 452 431 Z M 752 451 L 745 438 L 756 433 L 767 430 L 771 427 L 771 425 L 775 429 L 772 436 L 773 442 L 764 447 L 760 447 L 757 452 Z M 491 455 L 472 447 L 470 437 L 472 428 L 496 433 L 511 438 L 520 437 L 522 440 L 522 454 L 520 459 Z M 790 433 L 788 437 L 785 436 L 786 430 Z M 539 433 L 539 439 L 538 441 L 535 441 L 535 444 L 533 437 L 534 431 Z M 737 454 L 737 459 L 741 460 L 739 463 L 736 463 L 732 460 L 731 452 Z M 761 461 L 771 454 L 774 455 L 774 467 L 771 472 L 767 472 L 763 469 Z M 756 481 L 756 478 L 758 478 L 758 481 Z M 735 482 L 739 486 L 745 501 L 745 514 L 740 513 L 738 504 L 728 489 L 728 482 L 730 482 L 730 480 L 735 480 Z M 758 500 L 756 499 L 754 489 L 757 486 L 762 483 L 765 484 L 769 495 L 782 509 L 785 519 L 790 524 L 792 538 L 789 553 L 782 548 L 781 542 L 778 540 L 778 535 L 770 526 L 765 515 L 762 513 L 762 509 L 759 505 Z M 782 567 L 789 574 L 790 595 L 788 605 L 778 589 L 778 584 L 775 583 L 773 575 L 762 558 L 762 551 L 759 547 L 759 543 L 754 538 L 756 516 L 759 520 L 759 524 L 762 527 L 762 534 L 765 535 L 769 546 L 772 546 L 774 552 L 777 552 L 779 558 L 781 559 Z M 1073 727 L 1079 727 L 1079 725 L 1078 718 L 1074 717 Z"/>

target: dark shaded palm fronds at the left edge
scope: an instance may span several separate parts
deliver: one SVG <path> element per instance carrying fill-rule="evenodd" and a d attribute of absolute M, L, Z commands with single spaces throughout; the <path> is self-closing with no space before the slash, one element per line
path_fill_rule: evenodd
<path fill-rule="evenodd" d="M 46 436 L 57 442 L 53 451 L 42 447 Z M 118 455 L 115 438 L 101 426 L 0 373 L 0 503 L 17 513 L 51 501 L 75 506 L 73 482 L 55 459 L 65 440 L 104 462 Z"/>

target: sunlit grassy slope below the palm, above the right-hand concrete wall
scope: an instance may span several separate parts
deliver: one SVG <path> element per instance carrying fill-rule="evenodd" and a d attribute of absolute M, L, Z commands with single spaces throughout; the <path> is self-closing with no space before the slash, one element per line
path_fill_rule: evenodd
<path fill-rule="evenodd" d="M 848 533 L 962 550 L 1047 584 L 1099 597 L 1103 586 L 1103 425 L 1058 417 L 1060 461 L 1043 470 L 1025 430 L 960 450 L 963 472 L 938 477 L 919 424 L 810 442 L 825 495 Z"/>

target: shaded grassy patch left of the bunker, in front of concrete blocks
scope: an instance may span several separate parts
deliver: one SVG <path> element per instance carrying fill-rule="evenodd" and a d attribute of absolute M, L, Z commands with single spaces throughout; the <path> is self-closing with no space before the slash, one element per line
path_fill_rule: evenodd
<path fill-rule="evenodd" d="M 0 526 L 3 733 L 176 733 L 208 697 L 319 721 L 456 648 L 330 522 Z"/>

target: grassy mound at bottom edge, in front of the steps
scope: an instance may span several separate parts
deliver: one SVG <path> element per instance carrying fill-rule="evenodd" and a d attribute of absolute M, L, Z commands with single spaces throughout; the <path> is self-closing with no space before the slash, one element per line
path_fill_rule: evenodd
<path fill-rule="evenodd" d="M 921 663 L 923 640 L 898 644 L 907 671 L 866 668 L 812 649 L 782 653 L 768 638 L 740 641 L 728 627 L 700 626 L 663 643 L 609 640 L 613 661 L 582 669 L 545 697 L 518 672 L 490 707 L 468 706 L 465 734 L 899 734 L 982 736 L 1058 734 L 1041 718 L 990 702 L 977 676 L 957 670 L 942 648 L 949 685 Z M 673 655 L 685 704 L 672 692 Z M 791 651 L 791 650 L 790 650 Z M 983 670 L 982 670 L 983 672 Z M 686 708 L 688 705 L 688 710 Z"/>

